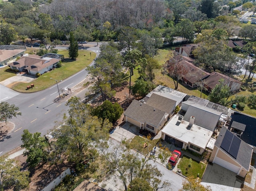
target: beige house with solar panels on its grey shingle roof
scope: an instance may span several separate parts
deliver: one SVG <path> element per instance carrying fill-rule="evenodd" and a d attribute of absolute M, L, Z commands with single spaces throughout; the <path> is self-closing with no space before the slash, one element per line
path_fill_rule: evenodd
<path fill-rule="evenodd" d="M 223 127 L 209 161 L 245 177 L 250 170 L 252 151 L 251 146 Z"/>

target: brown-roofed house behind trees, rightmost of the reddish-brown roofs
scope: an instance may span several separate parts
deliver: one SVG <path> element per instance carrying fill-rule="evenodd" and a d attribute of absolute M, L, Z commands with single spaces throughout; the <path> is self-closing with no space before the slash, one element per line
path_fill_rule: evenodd
<path fill-rule="evenodd" d="M 242 82 L 233 79 L 231 77 L 228 77 L 224 74 L 218 73 L 218 72 L 212 72 L 210 73 L 209 77 L 207 77 L 204 81 L 204 86 L 206 87 L 208 92 L 211 92 L 212 89 L 219 83 L 220 79 L 224 79 L 226 85 L 230 87 L 230 91 L 239 91 Z"/>

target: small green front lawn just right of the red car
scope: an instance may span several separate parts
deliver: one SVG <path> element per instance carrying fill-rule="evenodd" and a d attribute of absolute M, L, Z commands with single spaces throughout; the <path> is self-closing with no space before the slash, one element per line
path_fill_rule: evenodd
<path fill-rule="evenodd" d="M 202 162 L 198 162 L 194 159 L 191 160 L 190 164 L 190 157 L 183 155 L 182 159 L 178 163 L 178 168 L 181 169 L 182 174 L 186 177 L 192 177 L 194 179 L 197 178 L 197 174 L 199 174 L 199 177 L 202 178 L 202 175 L 204 174 L 204 170 L 206 168 L 206 164 Z"/>

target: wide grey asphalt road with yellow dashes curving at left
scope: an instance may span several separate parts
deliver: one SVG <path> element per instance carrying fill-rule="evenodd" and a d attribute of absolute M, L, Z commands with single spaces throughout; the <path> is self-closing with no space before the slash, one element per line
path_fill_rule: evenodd
<path fill-rule="evenodd" d="M 95 51 L 99 54 L 99 46 L 93 47 L 92 49 L 88 48 L 88 50 Z M 58 87 L 59 89 L 65 87 L 72 88 L 84 81 L 87 75 L 88 72 L 83 69 L 64 81 L 58 81 Z M 15 124 L 15 128 L 8 136 L 0 141 L 0 156 L 22 144 L 21 135 L 24 129 L 28 129 L 31 133 L 40 132 L 41 135 L 48 134 L 50 129 L 62 121 L 63 113 L 68 110 L 68 106 L 65 106 L 66 102 L 53 102 L 54 98 L 59 96 L 57 85 L 44 91 L 17 93 L 17 95 L 16 92 L 6 89 L 6 87 L 1 86 L 0 88 L 1 97 L 5 98 L 3 101 L 15 104 L 20 108 L 20 112 L 22 112 L 22 116 L 14 117 L 10 120 Z M 80 92 L 78 96 L 83 99 L 84 93 Z M 7 96 L 8 94 L 12 96 Z"/>

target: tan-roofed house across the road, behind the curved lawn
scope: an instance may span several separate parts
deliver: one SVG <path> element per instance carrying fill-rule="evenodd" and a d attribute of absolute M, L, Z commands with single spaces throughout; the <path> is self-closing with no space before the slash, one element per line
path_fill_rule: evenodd
<path fill-rule="evenodd" d="M 47 71 L 50 71 L 56 65 L 60 59 L 43 57 L 41 58 L 38 55 L 30 55 L 28 57 L 21 57 L 17 61 L 10 63 L 9 66 L 11 69 L 16 69 L 18 71 L 27 71 L 30 74 L 35 75 L 36 73 L 43 74 Z"/>

